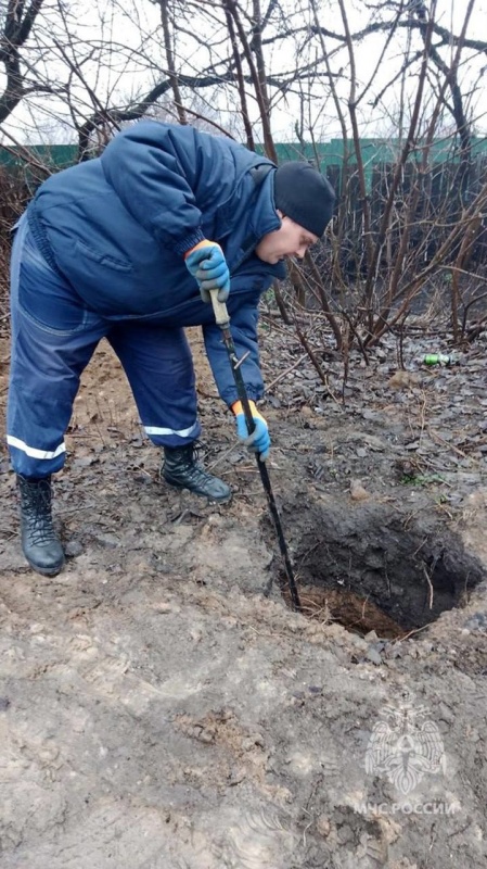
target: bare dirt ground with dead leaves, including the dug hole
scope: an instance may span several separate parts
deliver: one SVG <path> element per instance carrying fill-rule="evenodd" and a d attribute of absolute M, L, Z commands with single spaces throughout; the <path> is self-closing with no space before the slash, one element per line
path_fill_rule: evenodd
<path fill-rule="evenodd" d="M 486 342 L 428 369 L 444 348 L 411 335 L 398 375 L 390 339 L 343 390 L 318 331 L 325 382 L 262 323 L 298 614 L 191 340 L 230 505 L 158 480 L 103 344 L 55 480 L 53 579 L 23 559 L 1 454 L 2 869 L 487 867 Z M 7 341 L 0 360 L 3 407 Z"/>

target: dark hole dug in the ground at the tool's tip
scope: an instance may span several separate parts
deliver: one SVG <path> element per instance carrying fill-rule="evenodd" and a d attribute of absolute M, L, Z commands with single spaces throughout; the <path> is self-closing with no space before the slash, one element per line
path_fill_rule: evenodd
<path fill-rule="evenodd" d="M 435 518 L 412 521 L 384 505 L 300 507 L 297 521 L 293 514 L 293 564 L 304 613 L 356 633 L 414 635 L 465 604 L 485 579 L 461 538 Z M 279 580 L 289 601 L 285 575 Z"/>

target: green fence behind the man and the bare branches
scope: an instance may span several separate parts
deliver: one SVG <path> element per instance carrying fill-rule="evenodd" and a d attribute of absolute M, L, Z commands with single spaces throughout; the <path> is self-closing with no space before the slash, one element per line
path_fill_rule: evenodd
<path fill-rule="evenodd" d="M 362 139 L 360 147 L 366 168 L 367 205 L 374 240 L 377 238 L 401 143 L 394 140 Z M 261 153 L 262 149 L 259 151 Z M 316 147 L 310 143 L 281 142 L 277 144 L 277 151 L 279 162 L 309 160 L 315 164 L 319 163 L 323 174 L 329 177 L 335 190 L 339 191 L 341 204 L 345 204 L 345 209 L 341 209 L 343 241 L 339 256 L 347 273 L 361 272 L 366 262 L 363 238 L 366 203 L 360 190 L 354 143 L 344 142 L 342 139 L 320 142 Z M 30 164 L 29 156 L 33 160 Z M 22 149 L 0 147 L 0 169 L 3 165 L 7 171 L 4 173 L 7 186 L 12 184 L 12 176 L 21 178 L 24 182 L 21 186 L 25 191 L 23 198 L 27 200 L 47 175 L 72 165 L 76 162 L 76 146 L 39 144 Z M 393 247 L 399 244 L 403 221 L 400 203 L 415 199 L 410 245 L 421 248 L 424 251 L 424 259 L 428 260 L 458 221 L 461 209 L 469 205 L 487 185 L 487 139 L 473 140 L 472 160 L 466 173 L 460 163 L 459 148 L 456 149 L 452 140 L 434 142 L 428 153 L 428 171 L 425 173 L 420 171 L 422 158 L 421 143 L 418 143 L 411 151 L 396 189 L 398 214 L 388 234 L 388 242 Z M 413 191 L 415 191 L 414 197 Z M 432 226 L 435 227 L 434 231 Z M 476 264 L 487 264 L 487 225 L 484 226 L 484 223 L 474 241 L 472 260 Z"/>

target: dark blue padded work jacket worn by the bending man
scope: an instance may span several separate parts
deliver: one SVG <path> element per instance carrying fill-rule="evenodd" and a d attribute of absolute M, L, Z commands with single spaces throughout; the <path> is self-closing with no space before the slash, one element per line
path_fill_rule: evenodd
<path fill-rule="evenodd" d="M 253 168 L 269 164 L 260 184 Z M 282 263 L 255 255 L 280 227 L 273 164 L 228 138 L 189 126 L 141 121 L 114 137 L 100 158 L 51 176 L 28 207 L 33 234 L 87 307 L 106 319 L 165 327 L 203 326 L 219 393 L 236 390 L 215 326 L 184 265 L 204 238 L 223 249 L 230 274 L 228 310 L 251 399 L 264 387 L 257 347 L 257 305 Z M 258 176 L 258 173 L 257 173 Z"/>

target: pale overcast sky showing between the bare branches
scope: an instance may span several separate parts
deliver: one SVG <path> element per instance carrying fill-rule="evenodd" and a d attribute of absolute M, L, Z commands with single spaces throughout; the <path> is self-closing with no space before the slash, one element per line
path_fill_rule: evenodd
<path fill-rule="evenodd" d="M 85 40 L 94 40 L 100 43 L 100 40 L 108 40 L 113 38 L 118 42 L 124 42 L 127 46 L 127 51 L 124 53 L 108 53 L 105 48 L 102 55 L 102 65 L 97 61 L 89 61 L 82 65 L 82 75 L 87 79 L 90 88 L 92 88 L 102 104 L 114 104 L 117 101 L 121 103 L 127 102 L 127 98 L 136 99 L 137 96 L 148 90 L 154 81 L 163 75 L 162 72 L 151 68 L 146 62 L 146 56 L 153 58 L 154 61 L 158 59 L 161 70 L 165 67 L 165 58 L 161 43 L 161 30 L 158 26 L 161 23 L 159 9 L 151 3 L 149 0 L 121 0 L 121 5 L 114 5 L 112 0 L 84 0 L 84 2 L 75 3 L 67 2 L 67 8 L 73 11 L 74 20 L 76 21 L 77 35 Z M 304 5 L 304 3 L 303 3 Z M 426 5 L 430 5 L 430 0 L 426 0 Z M 290 26 L 305 26 L 307 22 L 311 22 L 311 17 L 306 17 L 305 12 L 299 12 L 299 0 L 281 0 L 281 7 L 285 11 L 285 16 Z M 459 34 L 463 24 L 467 0 L 437 0 L 437 21 L 453 33 Z M 343 32 L 343 23 L 339 14 L 339 5 L 334 0 L 330 0 L 328 4 L 323 0 L 324 12 L 320 15 L 320 23 L 330 29 Z M 370 20 L 370 10 L 366 8 L 366 3 L 359 0 L 347 0 L 346 2 L 347 15 L 349 17 L 349 26 L 351 30 L 358 30 L 366 26 Z M 220 32 L 223 34 L 225 21 L 221 10 L 215 11 L 216 17 L 220 17 Z M 53 33 L 55 33 L 55 21 L 52 20 L 52 26 L 46 27 L 46 33 L 42 35 L 41 41 L 49 45 L 49 40 Z M 191 29 L 194 28 L 196 33 L 205 32 L 203 24 L 192 18 L 184 23 L 188 36 L 184 41 L 178 47 L 178 62 L 180 71 L 183 73 L 194 75 L 195 71 L 204 66 L 209 58 L 215 61 L 218 59 L 218 52 L 225 55 L 226 46 L 221 45 L 219 48 L 214 49 L 210 53 L 207 49 L 197 45 L 190 36 Z M 476 0 L 472 20 L 469 26 L 467 36 L 472 38 L 479 37 L 487 40 L 487 0 Z M 207 24 L 205 24 L 207 27 Z M 218 30 L 218 24 L 216 24 Z M 358 78 L 358 92 L 367 83 L 372 73 L 374 72 L 376 61 L 381 55 L 384 42 L 386 39 L 385 34 L 379 34 L 368 37 L 363 42 L 356 48 L 356 62 L 357 62 L 357 78 Z M 208 40 L 208 41 L 213 41 Z M 333 42 L 326 39 L 328 50 L 333 48 Z M 318 47 L 313 42 L 312 55 Z M 137 49 L 142 49 L 142 53 L 133 53 L 130 62 L 127 62 L 126 54 L 130 49 L 132 52 Z M 379 72 L 374 78 L 370 90 L 366 98 L 362 100 L 360 110 L 360 133 L 362 136 L 393 136 L 397 129 L 397 106 L 399 99 L 399 87 L 396 86 L 394 90 L 388 91 L 386 98 L 383 100 L 382 105 L 372 111 L 370 103 L 373 98 L 384 88 L 386 83 L 390 80 L 395 72 L 400 67 L 403 61 L 405 51 L 408 48 L 407 33 L 402 28 L 392 42 L 384 61 L 382 62 Z M 421 48 L 421 39 L 418 32 L 414 32 L 411 37 L 411 50 Z M 306 52 L 306 46 L 303 51 Z M 444 50 L 446 60 L 450 60 L 454 48 Z M 144 58 L 145 54 L 145 58 Z M 283 72 L 290 71 L 294 63 L 294 48 L 290 42 L 287 46 L 280 43 L 279 50 L 275 48 L 267 49 L 268 54 L 268 72 Z M 66 79 L 66 71 L 60 65 L 60 62 L 54 63 L 49 60 L 48 52 L 47 62 L 47 76 L 51 83 Z M 465 54 L 466 58 L 466 54 Z M 107 61 L 111 61 L 111 68 L 108 68 Z M 464 92 L 466 92 L 474 81 L 478 79 L 479 71 L 487 64 L 485 55 L 471 60 L 464 63 L 461 68 L 460 75 L 463 83 Z M 346 100 L 348 96 L 347 71 L 349 68 L 348 56 L 345 49 L 341 49 L 332 58 L 332 66 L 335 72 L 343 70 L 343 78 L 337 85 L 337 90 L 341 99 Z M 76 85 L 76 98 L 78 100 L 79 114 L 84 112 L 89 114 L 91 106 L 87 98 L 87 89 L 85 84 L 79 79 Z M 409 99 L 415 89 L 415 77 L 408 76 L 405 81 L 405 92 Z M 485 100 L 485 84 L 484 78 L 478 81 L 478 89 L 472 97 L 472 108 L 474 113 L 478 115 L 477 128 L 480 133 L 487 131 L 487 121 L 484 116 L 484 105 L 487 104 Z M 228 123 L 231 127 L 231 122 L 234 118 L 235 105 L 235 91 L 228 96 L 228 91 L 221 89 L 220 93 L 215 91 L 198 91 L 202 102 L 203 111 L 205 109 L 205 100 L 208 100 L 210 109 L 218 102 L 222 111 L 223 124 Z M 255 101 L 249 101 L 251 110 L 253 112 L 253 119 L 257 121 L 258 113 Z M 209 111 L 209 110 L 208 110 Z M 312 125 L 317 138 L 330 139 L 341 136 L 341 128 L 336 119 L 336 111 L 332 100 L 329 97 L 326 88 L 316 88 L 315 96 L 309 106 L 307 106 L 307 121 Z M 480 114 L 482 113 L 482 114 Z M 62 118 L 62 121 L 60 121 Z M 272 128 L 277 140 L 293 140 L 295 139 L 294 125 L 296 119 L 299 119 L 299 100 L 297 97 L 287 96 L 283 99 L 280 96 L 272 114 Z M 67 141 L 74 140 L 73 125 L 69 113 L 61 101 L 54 99 L 47 99 L 46 96 L 38 96 L 31 98 L 29 103 L 23 104 L 22 109 L 15 111 L 14 115 L 10 118 L 5 128 L 10 130 L 21 141 L 30 140 L 51 140 L 51 141 Z"/>

